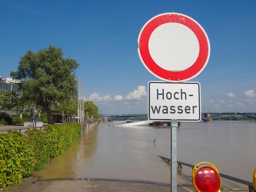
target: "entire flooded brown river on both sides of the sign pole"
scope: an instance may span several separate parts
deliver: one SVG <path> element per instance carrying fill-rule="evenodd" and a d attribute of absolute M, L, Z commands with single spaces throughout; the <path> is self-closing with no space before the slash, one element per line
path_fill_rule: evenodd
<path fill-rule="evenodd" d="M 178 161 L 193 165 L 207 161 L 221 173 L 249 181 L 256 168 L 255 149 L 256 121 L 182 122 L 177 128 Z M 170 162 L 157 155 L 171 157 L 171 127 L 99 123 L 34 176 L 171 184 Z M 191 172 L 191 167 L 182 166 L 177 184 L 191 184 Z M 227 179 L 222 179 L 222 185 L 247 188 Z"/>

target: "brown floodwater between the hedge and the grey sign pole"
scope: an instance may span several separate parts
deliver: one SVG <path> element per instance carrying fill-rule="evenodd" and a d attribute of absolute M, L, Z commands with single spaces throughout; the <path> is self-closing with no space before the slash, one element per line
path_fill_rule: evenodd
<path fill-rule="evenodd" d="M 171 128 L 99 123 L 35 172 L 42 180 L 113 179 L 171 184 Z M 155 143 L 154 143 L 155 139 Z"/>

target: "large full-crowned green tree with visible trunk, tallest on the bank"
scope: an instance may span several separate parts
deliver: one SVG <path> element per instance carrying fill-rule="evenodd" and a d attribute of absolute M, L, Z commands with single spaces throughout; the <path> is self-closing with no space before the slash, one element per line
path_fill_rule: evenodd
<path fill-rule="evenodd" d="M 47 114 L 48 124 L 54 124 L 51 118 L 52 103 L 68 103 L 77 92 L 74 70 L 79 63 L 72 58 L 63 58 L 61 47 L 49 45 L 34 53 L 29 50 L 20 58 L 17 71 L 10 76 L 20 80 L 21 99 L 42 106 Z"/>

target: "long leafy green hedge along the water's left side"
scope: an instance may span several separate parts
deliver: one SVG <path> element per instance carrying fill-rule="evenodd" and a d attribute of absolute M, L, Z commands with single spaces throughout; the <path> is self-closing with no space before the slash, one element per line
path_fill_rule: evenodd
<path fill-rule="evenodd" d="M 0 187 L 21 183 L 81 137 L 79 123 L 50 125 L 44 130 L 28 130 L 28 138 L 18 131 L 0 134 Z"/>

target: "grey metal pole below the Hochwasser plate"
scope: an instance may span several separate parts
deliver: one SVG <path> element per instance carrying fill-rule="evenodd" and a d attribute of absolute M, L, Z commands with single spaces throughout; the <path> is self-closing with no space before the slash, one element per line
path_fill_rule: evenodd
<path fill-rule="evenodd" d="M 177 126 L 178 120 L 171 120 L 171 183 L 172 192 L 177 191 Z"/>

